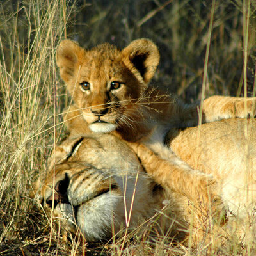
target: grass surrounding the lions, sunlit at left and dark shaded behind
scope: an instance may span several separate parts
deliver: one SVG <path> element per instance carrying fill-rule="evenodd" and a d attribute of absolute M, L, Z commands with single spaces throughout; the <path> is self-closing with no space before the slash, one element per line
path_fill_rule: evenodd
<path fill-rule="evenodd" d="M 44 172 L 49 154 L 65 134 L 61 111 L 70 104 L 54 60 L 62 38 L 84 47 L 110 42 L 122 48 L 136 38 L 152 39 L 161 62 L 152 83 L 186 102 L 200 99 L 212 1 L 14 1 L 0 3 L 0 254 L 99 254 L 68 239 L 51 225 L 29 198 L 31 184 Z M 250 3 L 248 96 L 255 93 L 255 1 L 216 1 L 205 96 L 243 96 L 243 5 Z M 140 238 L 140 239 L 139 239 Z M 123 252 L 116 241 L 104 252 L 152 255 L 141 237 Z M 227 240 L 212 255 L 248 255 L 240 241 Z M 77 247 L 76 247 L 77 246 Z M 204 247 L 204 245 L 202 246 Z M 190 255 L 165 246 L 155 253 Z M 204 253 L 204 250 L 202 250 Z M 195 253 L 196 254 L 196 253 Z"/>

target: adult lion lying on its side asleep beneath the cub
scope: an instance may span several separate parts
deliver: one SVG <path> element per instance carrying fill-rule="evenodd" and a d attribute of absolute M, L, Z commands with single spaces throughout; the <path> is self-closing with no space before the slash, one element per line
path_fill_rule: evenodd
<path fill-rule="evenodd" d="M 225 207 L 239 218 L 245 218 L 244 212 L 252 213 L 256 205 L 255 132 L 254 120 L 236 119 L 204 124 L 200 133 L 198 127 L 188 128 L 170 138 L 177 156 L 214 175 Z M 71 138 L 53 156 L 55 170 L 49 164 L 41 191 L 44 206 L 52 209 L 54 202 L 54 215 L 68 220 L 69 230 L 81 230 L 88 241 L 110 238 L 122 226 L 136 227 L 166 204 L 169 209 L 164 214 L 170 218 L 163 230 L 173 225 L 173 236 L 180 228 L 189 228 L 186 223 L 193 211 L 189 211 L 186 196 L 158 188 L 143 172 L 147 164 L 141 166 L 143 159 L 140 163 L 125 141 L 108 134 Z"/>

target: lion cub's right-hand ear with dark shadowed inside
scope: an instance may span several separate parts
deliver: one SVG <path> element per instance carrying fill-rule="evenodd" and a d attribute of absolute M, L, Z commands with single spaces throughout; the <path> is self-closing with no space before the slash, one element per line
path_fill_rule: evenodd
<path fill-rule="evenodd" d="M 145 83 L 149 83 L 156 72 L 160 55 L 156 45 L 149 39 L 134 40 L 122 50 L 124 58 L 140 72 Z"/>

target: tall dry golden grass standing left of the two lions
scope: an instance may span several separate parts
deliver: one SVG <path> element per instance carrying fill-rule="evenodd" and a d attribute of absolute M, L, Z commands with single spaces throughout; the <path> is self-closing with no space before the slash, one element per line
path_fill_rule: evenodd
<path fill-rule="evenodd" d="M 61 103 L 65 90 L 57 87 L 55 49 L 75 3 L 33 0 L 0 4 L 0 244 L 6 239 L 13 244 L 20 239 L 24 244 L 36 243 L 37 232 L 42 239 L 50 234 L 51 246 L 52 228 L 44 234 L 42 223 L 47 218 L 37 216 L 29 192 L 36 175 L 44 173 L 44 156 L 60 137 L 56 113 L 65 107 Z M 19 247 L 10 244 L 3 251 L 11 255 L 20 251 Z"/>

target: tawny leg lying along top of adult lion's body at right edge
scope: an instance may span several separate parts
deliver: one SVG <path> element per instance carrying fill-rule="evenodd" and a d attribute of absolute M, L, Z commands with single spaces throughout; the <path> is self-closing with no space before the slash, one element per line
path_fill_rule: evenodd
<path fill-rule="evenodd" d="M 212 96 L 203 102 L 203 122 L 221 119 L 255 117 L 256 97 Z"/>

